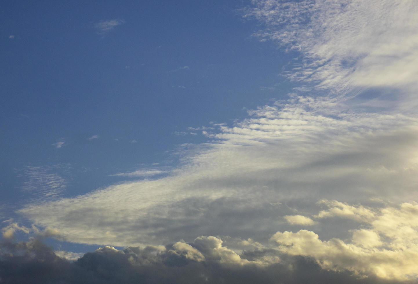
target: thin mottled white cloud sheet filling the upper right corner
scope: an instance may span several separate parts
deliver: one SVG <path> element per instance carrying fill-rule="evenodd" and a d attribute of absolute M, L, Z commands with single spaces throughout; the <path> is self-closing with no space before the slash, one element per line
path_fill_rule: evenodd
<path fill-rule="evenodd" d="M 394 87 L 412 110 L 417 91 L 418 5 L 403 0 L 253 0 L 245 18 L 264 24 L 255 33 L 303 56 L 284 72 L 299 89 L 358 94 L 359 89 Z M 400 20 L 402 19 L 402 20 Z M 308 87 L 308 89 L 306 89 Z M 412 101 L 411 101 L 412 100 Z"/>

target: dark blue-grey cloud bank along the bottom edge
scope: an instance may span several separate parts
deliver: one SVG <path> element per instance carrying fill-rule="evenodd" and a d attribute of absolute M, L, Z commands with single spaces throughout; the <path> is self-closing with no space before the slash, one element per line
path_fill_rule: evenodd
<path fill-rule="evenodd" d="M 202 247 L 203 244 L 198 245 L 202 253 L 208 249 Z M 184 245 L 192 251 L 196 249 Z M 0 245 L 0 283 L 389 283 L 370 277 L 359 279 L 349 272 L 326 271 L 313 260 L 300 256 L 280 256 L 279 264 L 259 266 L 224 263 L 216 257 L 196 261 L 190 254 L 175 250 L 176 244 L 162 251 L 154 247 L 129 247 L 123 251 L 104 247 L 84 254 L 76 261 L 68 261 L 56 256 L 50 247 L 38 240 L 3 242 Z M 271 250 L 253 251 L 241 257 L 251 260 L 274 254 Z"/>

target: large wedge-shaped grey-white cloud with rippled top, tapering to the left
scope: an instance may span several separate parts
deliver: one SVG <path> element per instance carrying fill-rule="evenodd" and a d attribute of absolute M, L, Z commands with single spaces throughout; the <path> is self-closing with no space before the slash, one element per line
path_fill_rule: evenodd
<path fill-rule="evenodd" d="M 315 202 L 376 196 L 401 201 L 416 195 L 413 118 L 334 112 L 332 102 L 298 96 L 249 114 L 232 127 L 206 132 L 214 143 L 180 147 L 180 166 L 169 176 L 28 204 L 19 212 L 66 232 L 68 241 L 126 246 L 175 241 L 185 238 L 184 230 L 257 239 L 283 227 L 278 212 L 294 215 L 277 203 L 302 210 L 303 200 L 311 200 L 305 216 L 345 214 L 356 220 L 368 211 L 333 203 L 331 213 L 317 213 Z"/>

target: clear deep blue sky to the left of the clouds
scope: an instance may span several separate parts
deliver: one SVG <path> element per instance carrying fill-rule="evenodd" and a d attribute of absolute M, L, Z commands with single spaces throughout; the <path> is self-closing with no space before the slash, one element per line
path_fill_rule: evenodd
<path fill-rule="evenodd" d="M 242 3 L 99 6 L 3 3 L 2 172 L 13 201 L 22 167 L 69 163 L 77 181 L 66 194 L 83 193 L 206 141 L 201 131 L 184 136 L 188 127 L 230 123 L 288 90 L 278 74 L 289 54 L 251 37 Z"/>

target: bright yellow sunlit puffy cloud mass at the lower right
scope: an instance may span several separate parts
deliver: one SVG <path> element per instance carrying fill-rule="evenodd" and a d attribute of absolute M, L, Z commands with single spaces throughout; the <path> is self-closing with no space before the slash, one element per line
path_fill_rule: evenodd
<path fill-rule="evenodd" d="M 316 233 L 306 230 L 278 232 L 271 240 L 279 244 L 281 252 L 312 257 L 324 269 L 347 269 L 390 280 L 416 280 L 418 204 L 367 209 L 360 205 L 344 206 L 357 212 L 356 221 L 368 224 L 368 228 L 352 230 L 351 242 L 338 238 L 321 241 Z M 374 214 L 364 214 L 364 210 Z M 336 216 L 352 218 L 352 214 L 345 213 Z"/>

